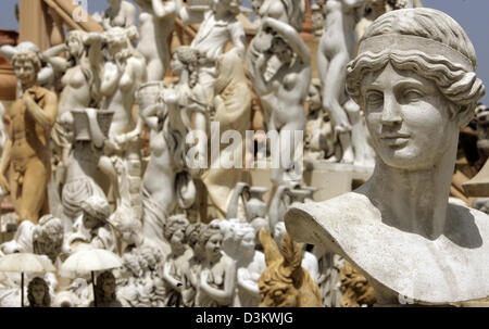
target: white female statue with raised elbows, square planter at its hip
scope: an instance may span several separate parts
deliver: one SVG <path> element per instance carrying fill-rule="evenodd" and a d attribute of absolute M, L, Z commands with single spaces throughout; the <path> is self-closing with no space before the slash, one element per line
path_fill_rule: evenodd
<path fill-rule="evenodd" d="M 61 157 L 57 180 L 63 184 L 61 199 L 66 232 L 82 214 L 80 202 L 91 195 L 103 197 L 109 190 L 106 176 L 98 169 L 106 138 L 99 124 L 103 117 L 110 119 L 111 114 L 95 110 L 101 99 L 101 48 L 100 34 L 72 30 L 65 43 L 42 54 L 54 74 L 63 75 L 59 115 L 51 137 Z M 63 52 L 67 59 L 61 55 Z"/>

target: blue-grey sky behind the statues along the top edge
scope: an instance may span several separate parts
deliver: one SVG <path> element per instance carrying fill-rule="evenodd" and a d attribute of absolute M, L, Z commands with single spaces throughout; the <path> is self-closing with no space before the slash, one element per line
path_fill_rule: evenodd
<path fill-rule="evenodd" d="M 18 29 L 15 21 L 14 5 L 17 0 L 1 0 L 0 28 Z M 76 0 L 74 0 L 76 1 Z M 88 11 L 103 11 L 108 3 L 103 0 L 78 0 L 86 1 Z M 133 0 L 129 0 L 133 2 Z M 422 0 L 425 7 L 441 10 L 452 16 L 465 29 L 477 52 L 478 76 L 489 83 L 489 1 L 488 0 Z M 250 0 L 243 0 L 243 5 L 250 7 Z M 487 86 L 489 88 L 489 85 Z M 482 102 L 489 105 L 489 91 L 482 98 Z"/>

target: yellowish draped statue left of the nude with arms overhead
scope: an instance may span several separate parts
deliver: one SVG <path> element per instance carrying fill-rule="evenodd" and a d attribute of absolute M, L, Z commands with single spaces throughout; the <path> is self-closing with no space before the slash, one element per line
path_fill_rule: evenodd
<path fill-rule="evenodd" d="M 242 59 L 234 48 L 221 55 L 216 63 L 217 78 L 214 85 L 214 111 L 212 122 L 220 129 L 212 129 L 210 140 L 218 139 L 220 156 L 211 156 L 210 168 L 201 179 L 208 190 L 209 199 L 216 208 L 214 218 L 224 217 L 229 205 L 231 190 L 238 181 L 251 182 L 249 173 L 242 169 L 246 151 L 246 131 L 251 128 L 251 90 L 244 75 Z M 226 131 L 239 134 L 241 141 L 225 142 Z M 215 152 L 215 150 L 211 150 Z M 209 152 L 208 152 L 209 154 Z M 234 166 L 236 165 L 236 166 Z"/>

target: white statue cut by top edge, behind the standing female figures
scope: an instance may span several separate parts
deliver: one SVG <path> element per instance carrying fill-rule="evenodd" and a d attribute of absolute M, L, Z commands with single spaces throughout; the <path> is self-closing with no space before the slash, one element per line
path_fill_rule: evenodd
<path fill-rule="evenodd" d="M 137 9 L 129 1 L 108 0 L 110 7 L 103 12 L 101 24 L 105 30 L 113 27 L 136 26 Z"/>

